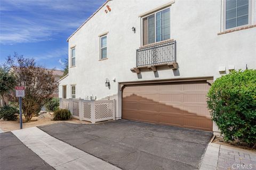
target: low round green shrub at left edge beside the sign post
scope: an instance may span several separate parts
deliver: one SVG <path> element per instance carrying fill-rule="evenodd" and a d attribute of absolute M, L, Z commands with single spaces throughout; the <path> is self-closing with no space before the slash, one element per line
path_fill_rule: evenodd
<path fill-rule="evenodd" d="M 0 108 L 0 118 L 6 121 L 17 120 L 19 110 L 15 107 L 4 106 Z"/>

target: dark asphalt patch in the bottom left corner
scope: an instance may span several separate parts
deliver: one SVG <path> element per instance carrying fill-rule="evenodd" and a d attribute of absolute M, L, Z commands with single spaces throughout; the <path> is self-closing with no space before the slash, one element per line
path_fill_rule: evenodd
<path fill-rule="evenodd" d="M 28 149 L 11 132 L 0 133 L 0 169 L 50 170 L 50 165 Z"/>

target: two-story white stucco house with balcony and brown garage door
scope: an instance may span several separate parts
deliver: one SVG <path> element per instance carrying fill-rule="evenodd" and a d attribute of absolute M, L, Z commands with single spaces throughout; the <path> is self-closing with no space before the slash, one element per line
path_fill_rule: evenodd
<path fill-rule="evenodd" d="M 206 94 L 256 69 L 256 1 L 107 1 L 68 44 L 60 98 L 116 99 L 117 119 L 217 131 Z"/>

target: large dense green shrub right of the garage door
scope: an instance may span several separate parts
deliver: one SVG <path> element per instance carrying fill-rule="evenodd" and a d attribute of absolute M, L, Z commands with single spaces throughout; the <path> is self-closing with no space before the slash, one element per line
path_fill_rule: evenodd
<path fill-rule="evenodd" d="M 256 70 L 233 71 L 215 80 L 207 105 L 226 141 L 256 143 Z"/>

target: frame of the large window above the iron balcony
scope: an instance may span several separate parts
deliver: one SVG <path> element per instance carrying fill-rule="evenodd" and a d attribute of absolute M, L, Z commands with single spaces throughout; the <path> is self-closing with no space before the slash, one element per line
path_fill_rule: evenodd
<path fill-rule="evenodd" d="M 171 6 L 168 6 L 168 7 L 165 7 L 165 8 L 162 8 L 161 10 L 159 10 L 159 11 L 156 11 L 156 12 L 153 12 L 153 13 L 150 13 L 150 14 L 148 14 L 148 15 L 145 15 L 145 16 L 143 16 L 142 18 L 141 18 L 141 44 L 142 44 L 142 46 L 144 46 L 144 44 L 143 44 L 143 31 L 144 31 L 144 29 L 143 29 L 143 19 L 145 19 L 145 18 L 148 18 L 148 16 L 151 16 L 151 15 L 155 15 L 155 43 L 159 43 L 159 42 L 161 42 L 161 41 L 158 41 L 158 42 L 156 42 L 156 13 L 158 13 L 158 12 L 161 12 L 161 11 L 164 11 L 164 10 L 166 10 L 167 8 L 170 8 L 170 39 L 171 39 Z M 148 38 L 148 40 L 149 40 L 149 38 Z M 165 41 L 165 40 L 162 40 L 162 41 Z M 154 44 L 154 43 L 150 43 L 150 44 Z M 147 44 L 147 45 L 149 45 L 149 43 Z"/>

